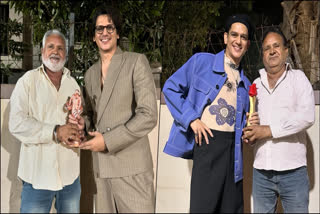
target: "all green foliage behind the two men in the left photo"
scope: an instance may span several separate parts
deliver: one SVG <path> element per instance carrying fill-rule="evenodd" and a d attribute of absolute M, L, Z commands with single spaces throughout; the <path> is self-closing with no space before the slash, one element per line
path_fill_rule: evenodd
<path fill-rule="evenodd" d="M 162 10 L 165 1 L 12 1 L 16 12 L 30 14 L 33 26 L 33 44 L 40 44 L 49 29 L 59 29 L 69 36 L 70 12 L 75 13 L 75 41 L 72 58 L 72 74 L 83 84 L 84 72 L 97 60 L 95 44 L 89 38 L 88 20 L 98 5 L 112 5 L 123 15 L 123 36 L 128 37 L 129 50 L 145 53 L 150 62 L 161 62 L 163 40 Z M 139 14 L 137 16 L 137 14 Z M 91 24 L 89 22 L 89 24 Z M 71 53 L 70 53 L 71 54 Z M 70 64 L 69 64 L 70 65 Z"/>

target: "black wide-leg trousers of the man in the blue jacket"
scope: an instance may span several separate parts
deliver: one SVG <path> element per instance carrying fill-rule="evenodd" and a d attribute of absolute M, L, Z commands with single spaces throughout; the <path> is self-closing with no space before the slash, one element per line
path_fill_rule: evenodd
<path fill-rule="evenodd" d="M 243 182 L 234 182 L 234 132 L 211 130 L 194 147 L 191 213 L 243 213 Z"/>

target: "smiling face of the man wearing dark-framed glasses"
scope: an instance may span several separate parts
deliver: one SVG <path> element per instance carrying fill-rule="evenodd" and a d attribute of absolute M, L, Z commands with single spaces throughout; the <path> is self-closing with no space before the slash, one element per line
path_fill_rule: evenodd
<path fill-rule="evenodd" d="M 100 15 L 96 20 L 96 30 L 93 37 L 93 41 L 97 44 L 99 51 L 104 53 L 114 53 L 117 49 L 117 39 L 119 39 L 119 34 L 114 28 L 112 33 L 109 33 L 107 28 L 103 28 L 102 32 L 97 30 L 99 26 L 109 26 L 107 28 L 115 27 L 113 21 L 108 15 Z"/>

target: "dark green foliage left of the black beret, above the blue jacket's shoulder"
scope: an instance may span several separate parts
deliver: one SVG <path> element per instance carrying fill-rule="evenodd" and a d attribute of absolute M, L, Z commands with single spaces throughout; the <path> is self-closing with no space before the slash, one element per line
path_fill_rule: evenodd
<path fill-rule="evenodd" d="M 216 25 L 222 6 L 220 1 L 166 2 L 161 85 L 192 56 L 195 49 L 205 50 L 208 33 Z"/>

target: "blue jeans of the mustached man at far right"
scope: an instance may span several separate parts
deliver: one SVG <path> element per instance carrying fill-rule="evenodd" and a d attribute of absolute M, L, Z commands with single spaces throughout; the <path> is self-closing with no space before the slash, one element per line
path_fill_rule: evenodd
<path fill-rule="evenodd" d="M 274 213 L 280 197 L 285 213 L 308 213 L 309 177 L 307 167 L 287 171 L 253 169 L 253 210 Z"/>

